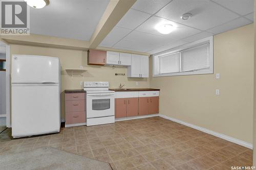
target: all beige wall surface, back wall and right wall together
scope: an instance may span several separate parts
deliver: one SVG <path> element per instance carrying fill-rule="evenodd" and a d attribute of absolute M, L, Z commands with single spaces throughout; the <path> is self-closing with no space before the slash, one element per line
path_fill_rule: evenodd
<path fill-rule="evenodd" d="M 63 90 L 81 89 L 80 81 L 109 81 L 127 88 L 160 88 L 160 113 L 209 130 L 252 143 L 253 116 L 253 24 L 214 36 L 215 75 L 140 79 L 115 76 L 125 67 L 89 66 L 87 52 L 63 48 L 11 44 L 12 54 L 59 57 L 61 63 L 61 113 Z M 87 67 L 84 76 L 71 77 L 65 68 Z M 152 68 L 152 59 L 150 59 Z M 150 72 L 152 75 L 152 71 Z M 136 86 L 136 82 L 139 85 Z M 220 95 L 215 95 L 220 89 Z"/>

